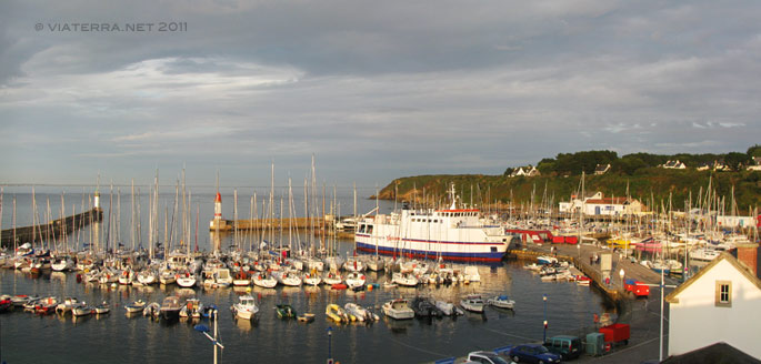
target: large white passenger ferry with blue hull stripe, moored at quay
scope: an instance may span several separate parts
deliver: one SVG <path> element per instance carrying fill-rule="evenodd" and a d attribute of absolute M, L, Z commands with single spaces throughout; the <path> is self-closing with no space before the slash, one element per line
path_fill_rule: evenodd
<path fill-rule="evenodd" d="M 431 260 L 499 262 L 512 235 L 478 209 L 401 210 L 360 221 L 357 249 L 367 253 Z"/>

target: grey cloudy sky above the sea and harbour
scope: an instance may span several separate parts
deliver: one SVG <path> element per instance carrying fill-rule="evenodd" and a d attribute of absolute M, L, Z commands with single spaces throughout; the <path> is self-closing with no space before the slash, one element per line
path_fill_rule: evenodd
<path fill-rule="evenodd" d="M 267 185 L 272 161 L 303 181 L 316 154 L 319 180 L 384 185 L 581 150 L 745 151 L 760 80 L 755 0 L 10 0 L 0 182 L 186 165 Z"/>

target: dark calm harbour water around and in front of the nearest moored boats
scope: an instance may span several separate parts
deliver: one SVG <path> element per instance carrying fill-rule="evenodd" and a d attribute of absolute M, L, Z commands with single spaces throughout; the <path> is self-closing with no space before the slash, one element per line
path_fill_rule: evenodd
<path fill-rule="evenodd" d="M 350 242 L 340 244 L 351 249 Z M 593 313 L 603 312 L 603 299 L 589 287 L 574 283 L 542 283 L 521 269 L 520 263 L 480 266 L 482 282 L 471 285 L 419 289 L 379 289 L 354 293 L 326 287 L 251 289 L 261 311 L 258 322 L 236 322 L 229 311 L 246 291 L 162 289 L 117 289 L 76 282 L 73 273 L 54 273 L 37 279 L 16 271 L 0 272 L 2 294 L 77 296 L 87 302 L 108 301 L 112 312 L 103 317 L 77 320 L 69 315 L 37 316 L 24 312 L 0 315 L 0 348 L 8 363 L 198 363 L 212 361 L 210 342 L 187 322 L 166 323 L 146 317 L 127 317 L 123 305 L 138 299 L 148 302 L 168 294 L 194 295 L 220 307 L 219 331 L 226 348 L 222 362 L 250 363 L 299 360 L 323 363 L 328 355 L 327 328 L 332 331 L 333 356 L 342 363 L 417 363 L 463 355 L 472 350 L 541 340 L 543 303 L 548 295 L 548 335 L 590 325 Z M 369 282 L 383 282 L 383 274 L 368 273 Z M 485 314 L 467 314 L 457 320 L 393 322 L 381 318 L 371 325 L 337 326 L 326 320 L 328 303 L 357 302 L 380 306 L 393 297 L 427 294 L 455 300 L 465 293 L 509 294 L 514 312 L 488 309 Z M 277 318 L 273 306 L 289 302 L 297 312 L 317 314 L 311 324 Z M 380 312 L 380 310 L 378 310 Z M 382 314 L 381 314 L 382 316 Z"/>

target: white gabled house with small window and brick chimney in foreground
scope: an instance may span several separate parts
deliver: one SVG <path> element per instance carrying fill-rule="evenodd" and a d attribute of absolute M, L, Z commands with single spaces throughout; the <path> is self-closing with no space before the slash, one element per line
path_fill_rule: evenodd
<path fill-rule="evenodd" d="M 669 355 L 725 342 L 761 358 L 757 250 L 758 244 L 738 246 L 743 262 L 722 253 L 665 297 L 670 304 Z"/>

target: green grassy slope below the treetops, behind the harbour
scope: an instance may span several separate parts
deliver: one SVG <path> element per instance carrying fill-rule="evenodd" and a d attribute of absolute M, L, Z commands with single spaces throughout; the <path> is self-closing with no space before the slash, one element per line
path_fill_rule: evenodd
<path fill-rule="evenodd" d="M 664 170 L 650 168 L 640 170 L 637 175 L 621 175 L 608 173 L 604 175 L 588 175 L 584 181 L 585 191 L 602 191 L 605 196 L 625 195 L 627 183 L 629 193 L 632 198 L 650 205 L 651 194 L 655 204 L 668 204 L 669 194 L 672 195 L 672 206 L 683 210 L 685 201 L 692 192 L 692 205 L 697 205 L 698 193 L 703 190 L 703 195 L 712 176 L 712 189 L 720 196 L 725 196 L 727 212 L 731 201 L 731 189 L 734 186 L 734 199 L 741 214 L 748 214 L 748 208 L 761 205 L 761 172 L 710 172 L 695 170 Z M 430 199 L 435 195 L 440 199 L 445 195 L 445 190 L 451 182 L 454 182 L 458 194 L 465 202 L 471 198 L 471 185 L 473 188 L 473 201 L 485 200 L 490 193 L 489 201 L 508 202 L 511 191 L 513 203 L 529 203 L 532 191 L 535 189 L 534 203 L 542 201 L 544 185 L 547 184 L 547 199 L 554 194 L 557 206 L 559 201 L 569 201 L 570 195 L 577 191 L 580 184 L 580 176 L 535 176 L 535 178 L 504 178 L 502 175 L 483 174 L 437 174 L 407 176 L 392 181 L 380 192 L 381 199 L 393 200 L 394 184 L 398 184 L 399 200 L 411 200 L 413 185 L 418 189 L 417 196 L 421 199 L 423 188 L 425 195 Z M 480 196 L 479 199 L 479 192 Z"/>

